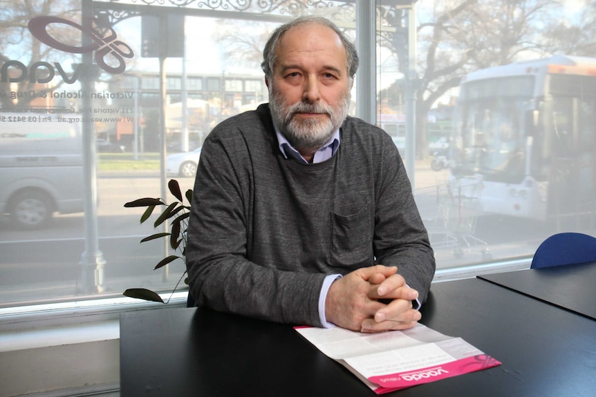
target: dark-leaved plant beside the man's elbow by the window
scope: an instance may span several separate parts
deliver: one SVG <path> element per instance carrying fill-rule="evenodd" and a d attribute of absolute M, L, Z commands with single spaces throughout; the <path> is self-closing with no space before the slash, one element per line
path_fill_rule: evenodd
<path fill-rule="evenodd" d="M 147 207 L 145 212 L 140 217 L 140 223 L 143 223 L 146 220 L 148 220 L 153 211 L 156 209 L 156 207 L 166 206 L 166 208 L 158 216 L 155 222 L 153 222 L 153 227 L 157 228 L 164 222 L 171 220 L 171 229 L 169 233 L 155 233 L 147 236 L 146 238 L 143 238 L 140 242 L 147 242 L 151 240 L 156 240 L 158 238 L 167 238 L 169 239 L 169 246 L 171 246 L 171 249 L 176 251 L 178 255 L 167 255 L 166 258 L 163 258 L 162 260 L 160 260 L 160 262 L 158 262 L 158 264 L 156 264 L 153 270 L 160 269 L 178 258 L 182 259 L 186 264 L 185 251 L 187 243 L 188 217 L 190 215 L 190 204 L 192 202 L 192 189 L 187 190 L 185 193 L 185 197 L 183 197 L 182 192 L 180 191 L 180 185 L 178 184 L 177 180 L 170 180 L 167 186 L 171 195 L 173 195 L 178 201 L 172 202 L 171 204 L 166 204 L 160 198 L 146 197 L 124 204 L 124 206 L 127 208 Z M 183 198 L 186 199 L 188 205 L 184 204 Z M 185 276 L 186 270 L 184 271 L 183 275 L 180 276 L 180 280 L 178 280 L 178 282 L 176 283 L 174 291 L 176 291 L 178 285 L 183 279 L 185 280 L 185 283 L 188 284 L 188 279 L 185 278 Z M 172 291 L 172 293 L 174 293 L 174 291 Z M 169 302 L 169 299 L 166 302 L 164 302 L 164 300 L 162 300 L 162 298 L 156 292 L 145 288 L 127 289 L 126 291 L 124 291 L 124 296 L 129 296 L 130 298 L 150 300 L 153 302 Z"/>

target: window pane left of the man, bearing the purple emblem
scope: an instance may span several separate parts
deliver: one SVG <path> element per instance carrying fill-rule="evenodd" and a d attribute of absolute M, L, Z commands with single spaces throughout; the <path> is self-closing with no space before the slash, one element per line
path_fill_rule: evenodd
<path fill-rule="evenodd" d="M 167 182 L 192 188 L 209 131 L 268 101 L 262 48 L 279 23 L 316 12 L 355 36 L 353 1 L 4 3 L 0 307 L 174 289 L 183 261 L 153 267 L 180 252 L 140 243 L 171 226 L 124 204 L 173 202 Z"/>

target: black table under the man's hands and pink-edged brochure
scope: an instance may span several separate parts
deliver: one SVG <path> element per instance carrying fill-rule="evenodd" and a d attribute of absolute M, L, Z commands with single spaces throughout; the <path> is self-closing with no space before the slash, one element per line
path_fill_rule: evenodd
<path fill-rule="evenodd" d="M 434 284 L 422 322 L 503 365 L 388 396 L 593 396 L 596 321 L 478 279 Z M 122 314 L 120 388 L 136 396 L 375 396 L 289 325 L 207 309 Z"/>

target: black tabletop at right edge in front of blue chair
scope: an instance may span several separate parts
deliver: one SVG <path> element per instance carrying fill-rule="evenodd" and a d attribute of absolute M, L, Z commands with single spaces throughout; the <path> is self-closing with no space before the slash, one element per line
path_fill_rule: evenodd
<path fill-rule="evenodd" d="M 479 275 L 478 278 L 596 320 L 596 262 Z"/>

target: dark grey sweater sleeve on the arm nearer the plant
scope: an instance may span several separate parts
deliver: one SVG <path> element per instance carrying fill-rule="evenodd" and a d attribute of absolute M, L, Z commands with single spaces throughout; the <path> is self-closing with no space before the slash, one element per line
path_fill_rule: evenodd
<path fill-rule="evenodd" d="M 318 301 L 324 274 L 248 260 L 252 170 L 248 151 L 236 150 L 242 135 L 231 135 L 210 135 L 201 151 L 186 250 L 192 296 L 199 306 L 218 311 L 321 326 Z M 226 144 L 225 139 L 235 142 Z M 242 156 L 247 158 L 238 158 Z"/>

